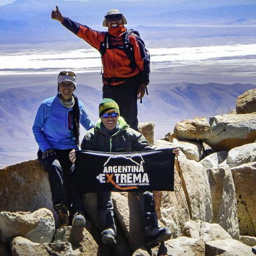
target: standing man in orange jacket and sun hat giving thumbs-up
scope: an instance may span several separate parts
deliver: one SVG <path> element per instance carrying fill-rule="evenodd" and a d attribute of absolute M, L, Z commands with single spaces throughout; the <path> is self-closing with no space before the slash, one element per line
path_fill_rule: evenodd
<path fill-rule="evenodd" d="M 138 31 L 127 30 L 124 15 L 114 9 L 108 11 L 102 23 L 108 32 L 95 31 L 63 17 L 58 6 L 51 17 L 100 52 L 103 98 L 115 100 L 127 124 L 138 130 L 137 99 L 143 98 L 150 73 L 149 53 Z"/>

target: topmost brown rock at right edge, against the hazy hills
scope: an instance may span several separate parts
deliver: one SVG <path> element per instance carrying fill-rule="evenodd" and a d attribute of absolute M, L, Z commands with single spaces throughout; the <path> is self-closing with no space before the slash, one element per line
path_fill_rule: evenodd
<path fill-rule="evenodd" d="M 256 89 L 245 91 L 236 100 L 236 113 L 247 114 L 256 112 Z"/>

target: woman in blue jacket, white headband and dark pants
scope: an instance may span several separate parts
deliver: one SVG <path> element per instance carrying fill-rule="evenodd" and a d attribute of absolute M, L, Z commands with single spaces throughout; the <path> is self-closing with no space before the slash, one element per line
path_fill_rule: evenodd
<path fill-rule="evenodd" d="M 85 225 L 83 204 L 72 179 L 68 154 L 71 149 L 78 149 L 79 124 L 89 130 L 94 127 L 94 123 L 86 113 L 83 102 L 73 94 L 75 89 L 75 73 L 61 71 L 58 75 L 58 94 L 41 103 L 33 125 L 33 133 L 39 145 L 37 156 L 49 174 L 59 227 L 68 226 L 71 204 L 73 225 Z"/>

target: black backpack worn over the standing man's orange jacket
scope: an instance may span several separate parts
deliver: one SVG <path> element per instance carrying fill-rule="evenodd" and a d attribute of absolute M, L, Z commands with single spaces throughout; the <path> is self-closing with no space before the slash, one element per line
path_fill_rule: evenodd
<path fill-rule="evenodd" d="M 122 35 L 123 36 L 123 42 L 124 45 L 120 46 L 120 45 L 116 45 L 116 46 L 112 46 L 109 44 L 109 33 L 107 32 L 104 38 L 104 41 L 101 43 L 100 45 L 100 54 L 101 54 L 101 59 L 103 58 L 103 55 L 106 53 L 107 49 L 120 49 L 120 50 L 124 50 L 125 54 L 127 55 L 127 57 L 130 60 L 130 67 L 132 69 L 132 71 L 136 68 L 136 63 L 135 63 L 135 59 L 134 59 L 134 53 L 133 53 L 133 46 L 130 44 L 129 42 L 129 36 L 133 35 L 137 38 L 140 38 L 140 42 L 145 46 L 145 43 L 143 42 L 143 40 L 140 37 L 140 34 L 138 31 L 133 30 L 133 29 L 127 29 L 126 32 Z M 149 54 L 148 50 L 145 47 L 145 51 L 147 54 Z"/>

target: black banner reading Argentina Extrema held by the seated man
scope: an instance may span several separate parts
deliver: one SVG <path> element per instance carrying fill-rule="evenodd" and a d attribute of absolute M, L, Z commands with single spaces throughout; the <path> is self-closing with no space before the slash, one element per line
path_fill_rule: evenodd
<path fill-rule="evenodd" d="M 81 193 L 174 189 L 172 148 L 132 153 L 76 151 Z"/>

